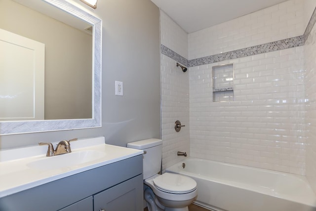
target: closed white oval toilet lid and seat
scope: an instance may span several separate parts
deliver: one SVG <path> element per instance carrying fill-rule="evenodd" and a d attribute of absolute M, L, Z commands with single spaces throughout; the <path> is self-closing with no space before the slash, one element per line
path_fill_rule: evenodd
<path fill-rule="evenodd" d="M 159 190 L 169 193 L 190 193 L 197 188 L 194 179 L 176 173 L 163 173 L 153 181 Z"/>

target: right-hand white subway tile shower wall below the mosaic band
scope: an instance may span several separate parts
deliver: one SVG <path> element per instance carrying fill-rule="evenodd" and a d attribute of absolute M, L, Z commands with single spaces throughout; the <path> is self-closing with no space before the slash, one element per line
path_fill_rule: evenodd
<path fill-rule="evenodd" d="M 306 97 L 306 176 L 316 192 L 316 27 L 304 46 L 305 97 Z"/>

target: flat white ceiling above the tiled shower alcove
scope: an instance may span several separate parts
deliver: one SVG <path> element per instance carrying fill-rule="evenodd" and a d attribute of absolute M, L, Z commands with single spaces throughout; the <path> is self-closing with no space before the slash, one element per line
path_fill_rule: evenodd
<path fill-rule="evenodd" d="M 152 0 L 187 33 L 223 23 L 285 0 Z"/>

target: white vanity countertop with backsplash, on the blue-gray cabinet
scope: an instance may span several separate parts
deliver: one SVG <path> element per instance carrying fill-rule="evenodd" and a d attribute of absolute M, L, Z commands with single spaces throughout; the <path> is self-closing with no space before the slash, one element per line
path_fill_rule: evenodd
<path fill-rule="evenodd" d="M 54 143 L 54 148 L 56 143 Z M 74 155 L 80 151 L 98 154 L 96 159 L 84 163 L 65 166 L 67 155 L 46 157 L 47 146 L 33 146 L 0 151 L 0 198 L 29 188 L 33 188 L 57 179 L 71 176 L 82 171 L 112 164 L 127 158 L 143 154 L 142 150 L 105 144 L 104 137 L 81 139 L 71 142 Z M 95 152 L 98 151 L 98 152 Z M 32 168 L 32 163 L 46 159 L 58 159 L 60 167 Z M 52 160 L 50 160 L 52 161 Z"/>

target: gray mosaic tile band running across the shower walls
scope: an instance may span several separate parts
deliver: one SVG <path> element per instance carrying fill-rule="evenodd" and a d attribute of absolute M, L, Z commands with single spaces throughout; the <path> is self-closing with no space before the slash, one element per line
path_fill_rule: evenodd
<path fill-rule="evenodd" d="M 211 64 L 215 62 L 221 62 L 229 59 L 237 59 L 246 56 L 257 55 L 261 53 L 268 53 L 276 50 L 283 50 L 292 47 L 298 47 L 304 45 L 308 36 L 310 35 L 314 25 L 316 23 L 316 8 L 312 14 L 312 17 L 306 27 L 304 35 L 288 38 L 280 41 L 269 42 L 265 44 L 255 45 L 251 47 L 241 48 L 238 50 L 233 50 L 229 52 L 219 53 L 211 56 L 205 56 L 197 59 L 188 60 L 171 50 L 170 48 L 160 45 L 160 51 L 162 54 L 170 57 L 171 59 L 176 60 L 177 62 L 187 66 L 187 67 L 195 67 L 199 65 Z"/>

